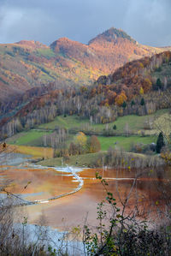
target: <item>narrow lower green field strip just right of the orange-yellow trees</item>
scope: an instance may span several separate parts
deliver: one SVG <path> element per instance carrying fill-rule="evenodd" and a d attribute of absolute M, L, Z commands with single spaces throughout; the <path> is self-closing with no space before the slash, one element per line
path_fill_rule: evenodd
<path fill-rule="evenodd" d="M 115 136 L 115 137 L 103 137 L 98 136 L 98 140 L 101 144 L 101 149 L 103 151 L 106 151 L 109 149 L 110 146 L 113 148 L 123 148 L 126 151 L 130 150 L 130 147 L 137 143 L 143 143 L 143 144 L 150 144 L 152 142 L 156 143 L 156 136 L 148 136 L 148 137 L 140 137 L 140 136 Z"/>

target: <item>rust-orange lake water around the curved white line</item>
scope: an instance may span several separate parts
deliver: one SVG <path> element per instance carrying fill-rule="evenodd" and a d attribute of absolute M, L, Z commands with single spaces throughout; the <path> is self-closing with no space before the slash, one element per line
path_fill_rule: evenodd
<path fill-rule="evenodd" d="M 21 156 L 20 156 L 21 158 Z M 24 160 L 26 161 L 26 159 Z M 77 188 L 74 176 L 68 175 L 62 168 L 43 168 L 21 164 L 3 165 L 2 176 L 9 180 L 8 191 L 21 194 L 24 199 L 49 199 L 62 193 L 70 193 Z M 108 190 L 120 205 L 133 186 L 133 193 L 128 205 L 132 208 L 135 203 L 144 205 L 149 211 L 165 205 L 171 197 L 170 170 L 75 170 L 84 181 L 83 188 L 68 197 L 50 201 L 44 205 L 29 205 L 27 211 L 29 221 L 38 223 L 42 211 L 51 227 L 66 229 L 83 223 L 88 213 L 88 222 L 96 223 L 97 202 L 105 199 L 106 192 L 101 182 L 95 178 L 96 172 L 108 182 Z M 141 175 L 140 175 L 141 174 Z M 138 177 L 135 182 L 135 177 Z M 29 184 L 28 184 L 29 183 Z"/>

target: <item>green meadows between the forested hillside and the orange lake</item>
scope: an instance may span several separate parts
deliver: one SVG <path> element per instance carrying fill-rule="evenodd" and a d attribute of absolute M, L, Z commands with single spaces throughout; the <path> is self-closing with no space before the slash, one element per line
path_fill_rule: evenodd
<path fill-rule="evenodd" d="M 85 128 L 91 128 L 92 131 L 100 133 L 109 128 L 114 131 L 113 126 L 116 125 L 115 133 L 124 133 L 124 128 L 127 124 L 128 128 L 135 135 L 130 136 L 99 136 L 97 138 L 101 145 L 101 151 L 107 151 L 109 147 L 116 149 L 123 149 L 127 152 L 130 151 L 133 144 L 150 144 L 156 143 L 158 129 L 165 131 L 168 128 L 167 125 L 163 126 L 163 119 L 168 116 L 168 110 L 158 110 L 155 114 L 150 116 L 121 116 L 115 122 L 109 124 L 90 124 L 88 119 L 81 119 L 80 116 L 56 116 L 53 122 L 44 123 L 35 129 L 15 134 L 15 136 L 9 138 L 7 142 L 16 146 L 43 146 L 44 134 L 51 134 L 56 127 L 76 129 L 76 131 L 84 131 Z M 153 127 L 150 130 L 144 129 L 144 123 L 151 119 L 153 121 Z M 146 136 L 142 136 L 142 131 Z M 67 146 L 74 140 L 75 134 L 69 134 L 66 141 Z M 87 136 L 87 139 L 89 136 Z M 88 156 L 86 156 L 88 157 Z"/>

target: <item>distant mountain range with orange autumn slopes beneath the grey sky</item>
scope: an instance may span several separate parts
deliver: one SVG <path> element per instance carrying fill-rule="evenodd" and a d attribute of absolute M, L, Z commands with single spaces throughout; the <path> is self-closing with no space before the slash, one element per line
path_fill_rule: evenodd
<path fill-rule="evenodd" d="M 87 44 L 67 38 L 57 39 L 50 46 L 22 40 L 0 45 L 0 101 L 35 86 L 57 84 L 90 85 L 124 63 L 171 50 L 139 45 L 127 33 L 114 27 L 97 35 Z"/>

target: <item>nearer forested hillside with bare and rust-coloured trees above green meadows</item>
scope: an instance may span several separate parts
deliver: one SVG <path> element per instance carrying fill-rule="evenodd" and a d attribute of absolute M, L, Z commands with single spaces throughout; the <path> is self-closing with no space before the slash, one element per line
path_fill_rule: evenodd
<path fill-rule="evenodd" d="M 2 134 L 52 121 L 55 116 L 74 114 L 94 123 L 114 122 L 117 116 L 155 113 L 170 107 L 171 52 L 127 63 L 109 76 L 101 76 L 92 86 L 62 86 L 32 98 L 16 111 L 15 118 L 3 118 Z M 48 88 L 50 88 L 48 86 Z M 167 97 L 166 97 L 167 96 Z"/>

